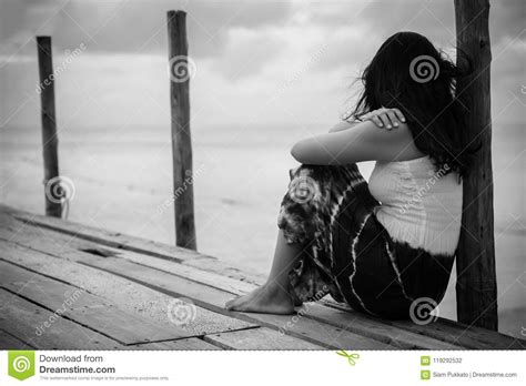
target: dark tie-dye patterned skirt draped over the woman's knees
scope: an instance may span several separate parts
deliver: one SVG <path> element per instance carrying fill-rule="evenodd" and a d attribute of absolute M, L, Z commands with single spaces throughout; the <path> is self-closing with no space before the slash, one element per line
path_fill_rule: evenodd
<path fill-rule="evenodd" d="M 277 223 L 286 242 L 303 248 L 290 273 L 301 301 L 331 294 L 392 319 L 408 318 L 421 299 L 432 304 L 428 312 L 442 301 L 454 257 L 392 240 L 377 205 L 355 164 L 291 170 Z"/>

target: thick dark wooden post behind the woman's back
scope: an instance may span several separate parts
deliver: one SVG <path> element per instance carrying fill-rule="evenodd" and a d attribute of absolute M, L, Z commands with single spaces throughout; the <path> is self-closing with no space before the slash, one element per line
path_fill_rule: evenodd
<path fill-rule="evenodd" d="M 473 170 L 464 179 L 456 299 L 458 322 L 496 331 L 488 17 L 488 0 L 455 0 L 457 62 L 464 51 L 473 61 L 474 70 L 457 84 L 459 100 L 469 110 L 465 133 L 468 142 L 482 141 Z"/>

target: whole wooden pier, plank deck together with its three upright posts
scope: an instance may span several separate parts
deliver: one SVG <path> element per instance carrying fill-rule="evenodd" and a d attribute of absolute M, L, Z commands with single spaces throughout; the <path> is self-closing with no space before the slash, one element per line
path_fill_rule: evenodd
<path fill-rule="evenodd" d="M 77 327 L 81 328 L 82 333 L 92 332 L 110 339 L 104 341 L 110 346 L 117 342 L 121 345 L 119 347 L 134 348 L 181 346 L 182 338 L 189 339 L 184 341 L 188 345 L 223 348 L 261 348 L 263 344 L 267 348 L 523 347 L 523 342 L 513 338 L 509 341 L 509 337 L 492 335 L 486 329 L 475 328 L 485 327 L 492 331 L 498 328 L 490 161 L 489 112 L 492 109 L 488 98 L 489 2 L 488 0 L 456 0 L 454 3 L 459 48 L 458 68 L 466 64 L 461 60 L 463 52 L 468 52 L 474 58 L 472 78 L 461 80 L 456 92 L 457 98 L 463 100 L 461 104 L 467 111 L 473 111 L 468 114 L 465 142 L 472 144 L 481 138 L 482 146 L 478 160 L 474 162 L 475 166 L 464 183 L 465 207 L 463 207 L 463 227 L 456 254 L 457 314 L 458 319 L 468 324 L 469 328 L 442 319 L 425 327 L 412 325 L 408 322 L 385 323 L 356 314 L 334 302 L 305 306 L 295 317 L 231 313 L 223 309 L 226 299 L 249 292 L 255 284 L 261 283 L 262 278 L 249 277 L 235 268 L 225 267 L 213 257 L 192 252 L 198 248 L 190 130 L 190 79 L 195 72 L 195 64 L 189 57 L 186 13 L 182 10 L 166 12 L 173 161 L 172 196 L 178 199 L 173 202 L 178 247 L 55 220 L 68 216 L 71 197 L 68 196 L 69 192 L 65 189 L 68 179 L 59 174 L 51 37 L 37 37 L 45 213 L 55 219 L 24 214 L 3 206 L 0 231 L 4 238 L 1 238 L 3 240 L 1 243 L 8 252 L 6 256 L 0 256 L 0 262 L 3 268 L 2 278 L 9 285 L 0 290 L 3 296 L 0 304 L 9 299 L 6 306 L 8 307 L 11 301 L 19 301 L 21 308 L 29 307 L 23 308 L 27 313 L 38 315 L 37 319 L 43 318 L 44 324 L 36 329 L 34 335 L 39 338 L 37 341 L 44 339 L 43 332 L 49 331 L 50 325 L 77 323 Z M 31 232 L 32 236 L 24 236 L 28 232 Z M 475 237 L 476 234 L 481 236 Z M 55 271 L 44 272 L 53 264 L 57 267 Z M 72 271 L 69 272 L 63 267 Z M 60 277 L 55 272 L 67 277 Z M 10 277 L 18 277 L 19 281 L 10 282 Z M 65 307 L 59 315 L 55 306 L 60 298 L 52 296 L 53 298 L 49 299 L 49 296 L 42 295 L 47 293 L 43 290 L 40 293 L 30 292 L 28 287 L 33 286 L 33 280 L 43 281 L 37 285 L 39 291 L 48 285 L 55 292 L 79 294 L 78 291 L 81 291 L 82 296 L 78 295 L 78 297 L 90 301 L 83 305 L 82 302 L 78 302 L 78 298 L 67 296 L 65 301 L 74 303 L 75 306 L 67 304 L 70 308 Z M 22 285 L 19 288 L 20 283 L 31 285 Z M 90 285 L 94 285 L 97 291 Z M 57 295 L 57 293 L 53 294 Z M 131 301 L 132 295 L 145 303 L 138 305 Z M 178 297 L 185 297 L 191 304 L 176 303 L 180 302 Z M 159 302 L 170 303 L 162 307 Z M 20 307 L 12 309 L 8 307 L 13 312 L 12 317 L 23 318 L 20 316 L 23 313 L 17 311 Z M 64 307 L 58 309 L 62 308 Z M 100 314 L 102 308 L 105 313 L 104 317 Z M 148 312 L 151 312 L 151 315 L 145 315 Z M 175 313 L 175 316 L 169 317 L 172 325 L 166 326 L 166 317 L 172 312 Z M 184 313 L 191 313 L 191 323 L 179 323 L 178 318 Z M 136 314 L 141 316 L 139 319 Z M 193 314 L 200 316 L 196 317 Z M 204 316 L 214 322 L 221 321 L 221 323 L 212 324 L 214 326 L 212 328 L 209 319 L 201 319 Z M 52 319 L 53 323 L 47 321 L 45 317 Z M 130 322 L 131 326 L 123 326 L 129 317 L 136 325 Z M 98 323 L 93 322 L 95 318 L 99 318 Z M 115 318 L 121 319 L 117 323 Z M 174 318 L 176 323 L 173 323 Z M 4 324 L 6 332 L 8 327 L 12 327 L 12 324 L 8 322 Z M 145 325 L 149 326 L 142 331 L 142 334 L 135 329 L 141 323 L 146 323 Z M 109 327 L 110 324 L 112 324 L 111 327 Z M 20 325 L 31 329 L 31 326 L 23 323 Z M 104 328 L 111 328 L 111 334 Z M 121 336 L 122 328 L 131 335 Z M 4 335 L 6 339 L 12 342 L 13 338 L 20 338 L 23 344 L 34 344 L 34 336 L 23 337 L 29 329 Z M 133 329 L 133 333 L 130 329 Z M 153 331 L 159 331 L 159 334 L 151 335 Z M 50 334 L 45 335 L 49 338 Z M 103 339 L 98 337 L 97 342 Z M 88 343 L 92 345 L 93 342 L 90 339 Z M 234 344 L 234 342 L 237 343 Z M 78 342 L 72 339 L 68 343 L 59 339 L 55 344 L 57 347 L 68 347 L 73 343 Z"/>

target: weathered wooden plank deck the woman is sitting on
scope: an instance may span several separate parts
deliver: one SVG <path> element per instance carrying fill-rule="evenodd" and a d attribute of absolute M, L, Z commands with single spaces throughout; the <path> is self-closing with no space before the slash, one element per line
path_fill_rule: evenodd
<path fill-rule="evenodd" d="M 381 321 L 331 301 L 297 315 L 223 308 L 262 281 L 192 251 L 0 205 L 1 349 L 526 347 L 443 318 Z"/>

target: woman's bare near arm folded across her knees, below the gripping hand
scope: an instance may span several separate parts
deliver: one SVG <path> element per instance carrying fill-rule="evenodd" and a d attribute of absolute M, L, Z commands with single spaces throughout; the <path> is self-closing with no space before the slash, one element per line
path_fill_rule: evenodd
<path fill-rule="evenodd" d="M 415 146 L 407 124 L 401 124 L 397 130 L 378 130 L 371 121 L 302 140 L 292 148 L 291 154 L 301 163 L 314 165 L 407 161 L 424 155 Z"/>

